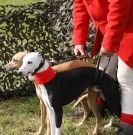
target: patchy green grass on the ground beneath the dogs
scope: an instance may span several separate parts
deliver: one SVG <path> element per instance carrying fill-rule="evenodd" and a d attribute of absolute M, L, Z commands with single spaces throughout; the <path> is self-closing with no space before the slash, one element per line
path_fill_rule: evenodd
<path fill-rule="evenodd" d="M 63 133 L 64 135 L 91 135 L 95 118 L 89 119 L 81 126 L 75 124 L 80 122 L 81 118 L 70 118 L 67 113 L 72 110 L 72 105 L 64 108 Z M 33 135 L 38 127 L 40 120 L 39 101 L 36 96 L 21 97 L 12 100 L 0 102 L 0 135 Z M 102 127 L 108 123 L 109 119 L 102 120 Z M 116 128 L 100 129 L 99 135 L 113 135 Z"/>

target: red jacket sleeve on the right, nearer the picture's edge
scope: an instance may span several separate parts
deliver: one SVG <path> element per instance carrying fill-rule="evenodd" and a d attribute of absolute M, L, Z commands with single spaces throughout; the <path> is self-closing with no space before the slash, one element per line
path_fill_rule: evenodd
<path fill-rule="evenodd" d="M 117 52 L 129 19 L 131 0 L 108 0 L 109 13 L 102 46 Z"/>

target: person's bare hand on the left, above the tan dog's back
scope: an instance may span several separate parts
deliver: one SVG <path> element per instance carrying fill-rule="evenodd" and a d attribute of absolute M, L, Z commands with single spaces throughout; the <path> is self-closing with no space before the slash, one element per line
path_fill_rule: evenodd
<path fill-rule="evenodd" d="M 84 45 L 75 45 L 74 54 L 75 55 L 85 55 Z"/>

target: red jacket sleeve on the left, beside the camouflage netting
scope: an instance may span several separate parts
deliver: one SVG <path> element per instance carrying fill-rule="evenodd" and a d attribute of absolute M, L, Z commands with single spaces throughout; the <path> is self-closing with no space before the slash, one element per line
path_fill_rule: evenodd
<path fill-rule="evenodd" d="M 89 14 L 82 0 L 74 0 L 73 5 L 73 44 L 85 45 L 88 38 Z"/>

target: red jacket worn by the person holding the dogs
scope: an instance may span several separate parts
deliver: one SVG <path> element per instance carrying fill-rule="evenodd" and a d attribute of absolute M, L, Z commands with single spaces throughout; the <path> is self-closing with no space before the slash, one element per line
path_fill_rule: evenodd
<path fill-rule="evenodd" d="M 101 45 L 133 68 L 133 1 L 74 0 L 73 42 L 85 45 L 90 19 L 97 29 L 92 55 Z"/>

